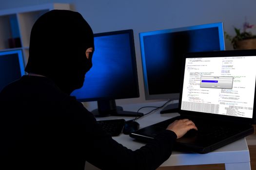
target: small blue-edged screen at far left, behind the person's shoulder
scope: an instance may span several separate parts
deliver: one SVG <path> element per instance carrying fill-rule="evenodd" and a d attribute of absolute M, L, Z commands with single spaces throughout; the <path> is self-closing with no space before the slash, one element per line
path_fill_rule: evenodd
<path fill-rule="evenodd" d="M 21 50 L 0 52 L 0 91 L 25 74 Z"/>

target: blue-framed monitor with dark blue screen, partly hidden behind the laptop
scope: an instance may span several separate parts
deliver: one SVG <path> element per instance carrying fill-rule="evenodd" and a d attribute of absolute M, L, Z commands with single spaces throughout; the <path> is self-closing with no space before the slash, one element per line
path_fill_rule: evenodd
<path fill-rule="evenodd" d="M 183 55 L 224 50 L 223 28 L 206 24 L 140 33 L 140 45 L 146 95 L 179 93 Z"/>

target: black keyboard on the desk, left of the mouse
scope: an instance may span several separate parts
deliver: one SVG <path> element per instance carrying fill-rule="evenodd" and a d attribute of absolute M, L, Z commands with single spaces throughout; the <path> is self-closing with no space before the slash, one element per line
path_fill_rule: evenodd
<path fill-rule="evenodd" d="M 102 128 L 111 136 L 118 136 L 122 132 L 125 124 L 124 119 L 98 120 L 97 122 L 101 124 Z"/>

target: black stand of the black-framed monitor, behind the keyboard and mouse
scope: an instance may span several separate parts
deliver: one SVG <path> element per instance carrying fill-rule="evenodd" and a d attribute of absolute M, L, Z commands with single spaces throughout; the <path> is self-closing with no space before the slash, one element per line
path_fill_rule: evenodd
<path fill-rule="evenodd" d="M 98 101 L 98 109 L 92 111 L 96 118 L 107 116 L 141 117 L 143 113 L 124 111 L 115 100 Z"/>

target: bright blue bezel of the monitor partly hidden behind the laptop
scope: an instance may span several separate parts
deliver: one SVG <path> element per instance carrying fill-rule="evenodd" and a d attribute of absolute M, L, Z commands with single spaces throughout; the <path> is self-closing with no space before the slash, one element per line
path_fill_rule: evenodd
<path fill-rule="evenodd" d="M 145 100 L 178 100 L 179 93 L 149 94 L 146 58 L 145 58 L 145 51 L 143 51 L 144 50 L 143 37 L 148 35 L 175 33 L 175 32 L 198 30 L 198 29 L 213 28 L 213 27 L 218 28 L 220 50 L 225 50 L 224 29 L 223 29 L 222 22 L 139 33 Z"/>

